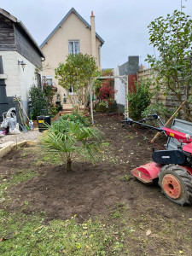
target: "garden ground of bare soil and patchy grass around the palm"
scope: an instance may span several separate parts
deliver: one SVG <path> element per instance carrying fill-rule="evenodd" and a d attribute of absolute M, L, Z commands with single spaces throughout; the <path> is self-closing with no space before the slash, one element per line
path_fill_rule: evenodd
<path fill-rule="evenodd" d="M 190 255 L 191 207 L 131 175 L 151 160 L 154 133 L 106 113 L 96 114 L 96 128 L 103 139 L 94 166 L 84 150 L 70 172 L 42 148 L 3 158 L 1 255 Z"/>

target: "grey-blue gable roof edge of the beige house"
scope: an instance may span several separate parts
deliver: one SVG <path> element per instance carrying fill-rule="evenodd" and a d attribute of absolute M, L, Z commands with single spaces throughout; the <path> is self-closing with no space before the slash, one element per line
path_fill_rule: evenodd
<path fill-rule="evenodd" d="M 60 21 L 60 23 L 55 27 L 55 29 L 49 34 L 49 36 L 44 40 L 44 42 L 40 45 L 40 48 L 42 48 L 42 47 L 44 46 L 44 44 L 47 43 L 47 41 L 49 40 L 49 38 L 52 37 L 52 35 L 57 31 L 57 29 L 61 26 L 61 24 L 62 24 L 65 20 L 67 20 L 68 16 L 71 15 L 71 14 L 77 15 L 77 16 L 79 17 L 79 19 L 84 22 L 84 25 L 87 26 L 87 27 L 89 27 L 89 28 L 91 29 L 90 24 L 89 24 L 86 20 L 84 20 L 84 18 L 83 18 L 81 15 L 79 15 L 79 13 L 76 11 L 76 9 L 72 8 L 72 9 L 70 9 L 70 10 L 68 11 L 67 15 L 65 15 L 65 17 Z M 102 42 L 102 44 L 104 44 L 105 41 L 97 34 L 97 32 L 96 32 L 96 38 L 98 38 L 98 39 Z"/>

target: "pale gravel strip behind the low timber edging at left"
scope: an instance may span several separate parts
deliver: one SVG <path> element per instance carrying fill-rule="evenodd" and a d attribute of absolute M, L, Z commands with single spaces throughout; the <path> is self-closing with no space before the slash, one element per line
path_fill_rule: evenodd
<path fill-rule="evenodd" d="M 4 137 L 0 137 L 0 144 L 7 143 L 7 142 L 22 142 L 22 141 L 38 141 L 38 137 L 41 136 L 41 132 L 39 131 L 28 131 L 26 133 L 21 132 L 20 134 L 16 135 L 6 135 Z"/>

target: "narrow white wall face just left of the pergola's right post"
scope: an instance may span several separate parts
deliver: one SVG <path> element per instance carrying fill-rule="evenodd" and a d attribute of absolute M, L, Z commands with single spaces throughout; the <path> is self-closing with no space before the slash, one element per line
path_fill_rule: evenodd
<path fill-rule="evenodd" d="M 114 76 L 119 76 L 119 67 L 113 69 Z M 114 90 L 118 90 L 114 95 L 114 100 L 117 104 L 125 106 L 125 84 L 120 79 L 114 79 Z"/>

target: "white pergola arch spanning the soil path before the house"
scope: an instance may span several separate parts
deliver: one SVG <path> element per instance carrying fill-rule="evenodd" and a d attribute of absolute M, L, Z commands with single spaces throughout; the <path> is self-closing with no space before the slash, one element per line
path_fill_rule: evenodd
<path fill-rule="evenodd" d="M 125 84 L 125 119 L 129 118 L 129 102 L 128 102 L 128 76 L 106 76 L 106 77 L 96 77 L 95 79 L 120 79 L 123 84 Z M 93 81 L 92 81 L 93 83 Z M 93 102 L 92 102 L 92 83 L 90 84 L 90 114 L 91 114 L 91 120 L 92 124 L 94 124 L 94 118 L 93 118 Z"/>

